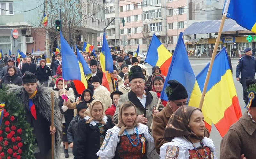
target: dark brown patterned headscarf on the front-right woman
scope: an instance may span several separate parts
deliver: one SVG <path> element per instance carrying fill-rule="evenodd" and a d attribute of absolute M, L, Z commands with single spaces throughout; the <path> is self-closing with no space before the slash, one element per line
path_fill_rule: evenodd
<path fill-rule="evenodd" d="M 172 140 L 174 137 L 185 136 L 186 139 L 202 140 L 204 136 L 197 136 L 189 126 L 190 116 L 195 110 L 200 110 L 196 107 L 181 106 L 170 117 L 167 126 L 164 130 L 164 139 Z"/>

